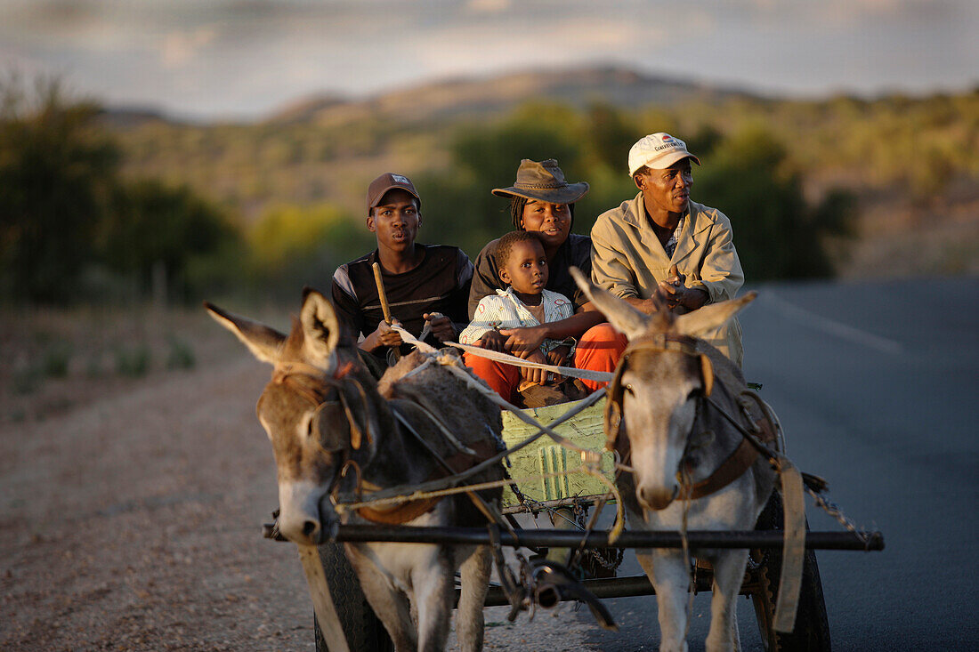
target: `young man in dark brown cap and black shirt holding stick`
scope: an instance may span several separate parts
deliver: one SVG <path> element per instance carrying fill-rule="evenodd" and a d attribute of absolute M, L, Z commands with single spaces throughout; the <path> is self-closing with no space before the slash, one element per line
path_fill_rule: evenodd
<path fill-rule="evenodd" d="M 462 250 L 421 245 L 415 236 L 422 223 L 421 199 L 408 177 L 387 172 L 367 188 L 367 229 L 377 250 L 342 264 L 333 275 L 333 305 L 360 349 L 390 363 L 401 337 L 384 320 L 374 279 L 381 263 L 385 294 L 393 320 L 429 344 L 454 341 L 467 322 L 466 303 L 473 263 Z M 400 352 L 407 352 L 405 347 Z"/>

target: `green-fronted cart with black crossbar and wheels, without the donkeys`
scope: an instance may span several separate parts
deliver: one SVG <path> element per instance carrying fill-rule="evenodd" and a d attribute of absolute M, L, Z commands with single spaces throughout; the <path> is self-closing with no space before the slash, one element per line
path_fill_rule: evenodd
<path fill-rule="evenodd" d="M 548 407 L 526 409 L 524 414 L 541 425 L 550 425 L 557 433 L 589 449 L 604 443 L 603 412 L 605 399 L 592 404 L 582 400 Z M 570 418 L 567 415 L 573 415 Z M 761 639 L 766 650 L 829 650 L 830 634 L 823 601 L 822 584 L 816 563 L 816 549 L 882 550 L 880 533 L 809 532 L 806 526 L 805 551 L 802 553 L 801 577 L 798 579 L 798 602 L 794 627 L 790 631 L 775 629 L 775 612 L 782 574 L 784 511 L 780 490 L 772 492 L 754 531 L 748 532 L 626 532 L 610 541 L 611 533 L 594 529 L 597 513 L 610 499 L 607 486 L 574 463 L 568 448 L 541 439 L 541 432 L 513 413 L 503 413 L 503 439 L 509 449 L 533 440 L 506 456 L 510 475 L 518 483 L 504 494 L 502 512 L 513 524 L 511 532 L 490 536 L 487 531 L 463 528 L 411 528 L 405 526 L 339 526 L 334 541 L 319 546 L 321 562 L 344 626 L 350 649 L 386 652 L 394 646 L 385 629 L 374 616 L 360 591 L 350 564 L 341 549 L 343 541 L 386 540 L 395 542 L 490 543 L 510 546 L 515 551 L 529 549 L 530 561 L 516 555 L 529 568 L 543 559 L 557 559 L 567 565 L 574 582 L 541 581 L 539 573 L 524 573 L 528 585 L 521 587 L 516 600 L 533 601 L 536 606 L 551 608 L 563 600 L 600 600 L 604 598 L 653 595 L 654 589 L 645 575 L 617 575 L 624 550 L 633 547 L 749 548 L 748 568 L 740 593 L 750 598 Z M 536 436 L 536 437 L 535 437 Z M 604 453 L 602 471 L 611 480 L 615 461 Z M 554 528 L 540 529 L 529 524 L 541 515 L 549 517 Z M 513 517 L 521 517 L 519 521 Z M 524 526 L 524 527 L 521 527 Z M 276 537 L 272 526 L 266 536 Z M 713 583 L 713 571 L 702 561 L 691 562 L 690 581 L 693 591 L 707 592 Z M 505 582 L 504 582 L 505 583 Z M 514 587 L 494 582 L 486 606 L 513 605 Z M 584 589 L 584 590 L 582 590 Z M 791 589 L 789 589 L 791 590 Z M 518 588 L 520 593 L 521 589 Z M 590 606 L 590 605 L 589 605 Z M 515 617 L 515 607 L 511 616 Z M 608 618 L 608 615 L 604 616 Z M 602 618 L 599 616 L 599 618 Z M 327 650 L 327 644 L 315 625 L 316 649 Z"/>

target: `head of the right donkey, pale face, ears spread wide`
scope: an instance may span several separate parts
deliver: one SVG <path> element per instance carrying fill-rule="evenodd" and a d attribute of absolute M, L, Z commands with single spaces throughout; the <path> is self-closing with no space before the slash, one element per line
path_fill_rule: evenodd
<path fill-rule="evenodd" d="M 714 384 L 710 358 L 697 350 L 695 338 L 720 327 L 756 295 L 682 315 L 665 304 L 645 314 L 591 285 L 579 270 L 572 273 L 588 299 L 629 339 L 608 389 L 607 446 L 628 446 L 639 504 L 665 509 L 679 492 L 677 473 L 698 399 L 709 396 Z"/>

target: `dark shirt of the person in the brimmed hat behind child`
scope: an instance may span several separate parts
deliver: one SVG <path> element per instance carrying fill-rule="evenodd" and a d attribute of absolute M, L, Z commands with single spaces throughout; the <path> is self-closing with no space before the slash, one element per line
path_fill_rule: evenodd
<path fill-rule="evenodd" d="M 487 295 L 496 294 L 496 290 L 505 290 L 506 286 L 499 280 L 499 265 L 496 264 L 496 244 L 493 240 L 479 256 L 476 256 L 476 272 L 473 274 L 473 287 L 469 291 L 469 318 L 476 314 L 476 306 Z M 548 290 L 559 292 L 575 303 L 575 310 L 588 303 L 588 298 L 575 283 L 568 268 L 572 265 L 582 270 L 585 278 L 591 278 L 591 238 L 577 233 L 568 234 L 554 259 L 548 261 L 547 285 Z"/>

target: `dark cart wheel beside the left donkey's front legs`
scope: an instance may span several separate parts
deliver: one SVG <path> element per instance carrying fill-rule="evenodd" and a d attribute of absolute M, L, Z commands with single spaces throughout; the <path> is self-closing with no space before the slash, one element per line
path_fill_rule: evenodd
<path fill-rule="evenodd" d="M 323 563 L 326 582 L 330 585 L 330 595 L 337 608 L 337 615 L 344 626 L 344 634 L 350 650 L 365 652 L 394 652 L 395 644 L 388 636 L 374 610 L 367 604 L 367 598 L 360 590 L 353 574 L 353 567 L 340 543 L 324 543 L 319 546 L 319 559 Z M 312 617 L 316 652 L 329 652 L 323 632 L 319 629 L 316 615 Z"/>

